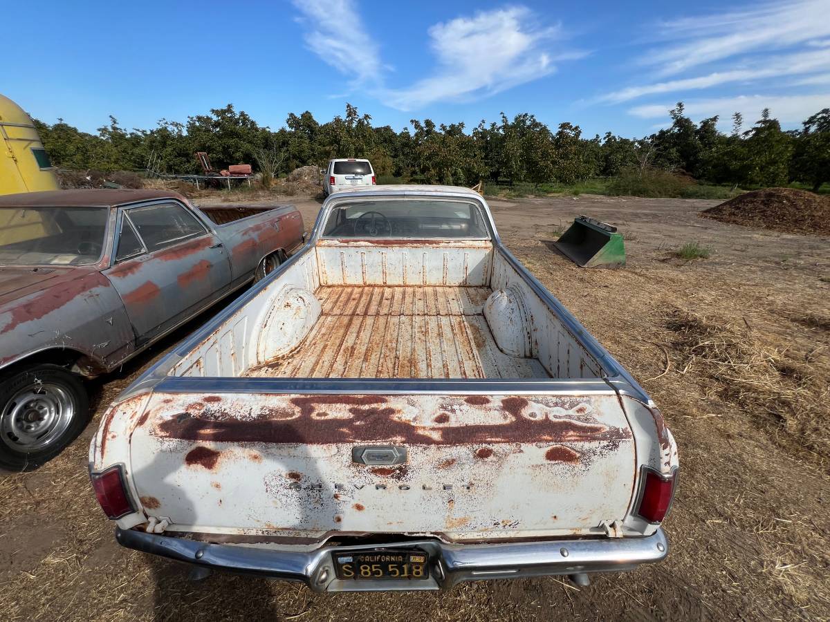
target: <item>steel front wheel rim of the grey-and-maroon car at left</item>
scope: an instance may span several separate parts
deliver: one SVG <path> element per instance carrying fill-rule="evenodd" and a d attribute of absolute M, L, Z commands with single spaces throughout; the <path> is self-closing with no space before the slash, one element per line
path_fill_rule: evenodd
<path fill-rule="evenodd" d="M 66 387 L 32 382 L 3 407 L 0 438 L 16 451 L 37 451 L 66 432 L 73 415 L 75 401 Z"/>

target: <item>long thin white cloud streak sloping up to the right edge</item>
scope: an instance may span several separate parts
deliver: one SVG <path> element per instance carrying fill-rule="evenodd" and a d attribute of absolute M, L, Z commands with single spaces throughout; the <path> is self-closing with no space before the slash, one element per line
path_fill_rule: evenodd
<path fill-rule="evenodd" d="M 779 56 L 763 63 L 753 62 L 751 66 L 740 69 L 715 71 L 707 75 L 691 78 L 667 80 L 651 85 L 629 86 L 615 90 L 598 98 L 599 101 L 619 103 L 634 100 L 644 95 L 657 93 L 674 93 L 677 91 L 707 89 L 712 86 L 732 82 L 752 82 L 779 75 L 801 75 L 817 70 L 830 70 L 830 53 L 827 51 L 808 51 Z M 805 83 L 806 84 L 806 83 Z"/>

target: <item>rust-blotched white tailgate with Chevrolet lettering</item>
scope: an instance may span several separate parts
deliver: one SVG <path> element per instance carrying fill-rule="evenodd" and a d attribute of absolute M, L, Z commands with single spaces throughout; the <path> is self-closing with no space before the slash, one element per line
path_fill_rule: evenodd
<path fill-rule="evenodd" d="M 144 511 L 170 530 L 315 539 L 599 533 L 625 518 L 636 464 L 610 392 L 157 393 L 130 440 Z"/>

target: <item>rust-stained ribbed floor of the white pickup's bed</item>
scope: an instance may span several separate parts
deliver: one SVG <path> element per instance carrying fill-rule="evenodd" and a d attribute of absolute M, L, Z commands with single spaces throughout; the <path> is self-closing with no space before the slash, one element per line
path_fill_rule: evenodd
<path fill-rule="evenodd" d="M 486 287 L 327 286 L 322 315 L 291 355 L 248 376 L 344 378 L 548 377 L 510 357 L 482 314 Z"/>

